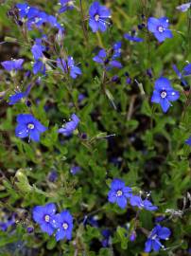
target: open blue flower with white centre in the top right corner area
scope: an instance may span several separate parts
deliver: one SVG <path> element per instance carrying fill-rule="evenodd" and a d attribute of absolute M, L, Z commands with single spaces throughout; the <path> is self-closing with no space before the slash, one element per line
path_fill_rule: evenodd
<path fill-rule="evenodd" d="M 166 38 L 172 38 L 172 32 L 168 28 L 169 21 L 166 17 L 159 19 L 150 17 L 148 19 L 148 30 L 154 34 L 159 42 L 164 42 Z"/>

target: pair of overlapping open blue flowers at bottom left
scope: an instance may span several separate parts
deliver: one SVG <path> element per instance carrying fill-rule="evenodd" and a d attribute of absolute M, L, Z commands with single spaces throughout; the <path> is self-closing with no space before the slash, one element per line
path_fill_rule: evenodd
<path fill-rule="evenodd" d="M 48 235 L 55 233 L 57 241 L 64 238 L 71 240 L 73 229 L 73 217 L 68 210 L 56 214 L 56 206 L 53 203 L 45 206 L 36 206 L 33 209 L 33 219 Z"/>

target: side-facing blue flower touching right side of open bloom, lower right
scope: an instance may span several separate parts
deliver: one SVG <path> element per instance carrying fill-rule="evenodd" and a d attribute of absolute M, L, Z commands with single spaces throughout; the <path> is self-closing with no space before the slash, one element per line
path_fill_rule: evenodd
<path fill-rule="evenodd" d="M 145 209 L 145 210 L 157 210 L 158 207 L 153 206 L 152 203 L 145 199 L 143 200 L 139 195 L 132 195 L 130 197 L 130 205 L 133 207 L 138 207 L 139 209 Z"/>

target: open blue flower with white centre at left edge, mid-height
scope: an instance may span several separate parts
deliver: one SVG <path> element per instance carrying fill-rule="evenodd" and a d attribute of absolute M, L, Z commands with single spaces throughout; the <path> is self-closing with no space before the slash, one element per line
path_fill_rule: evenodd
<path fill-rule="evenodd" d="M 18 115 L 17 122 L 18 125 L 15 129 L 16 137 L 29 137 L 33 141 L 39 141 L 40 134 L 47 130 L 47 128 L 31 114 Z"/>

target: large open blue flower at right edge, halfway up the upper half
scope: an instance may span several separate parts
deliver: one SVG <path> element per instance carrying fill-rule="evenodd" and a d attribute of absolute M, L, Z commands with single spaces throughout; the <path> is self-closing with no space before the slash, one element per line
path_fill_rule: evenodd
<path fill-rule="evenodd" d="M 164 112 L 171 106 L 170 101 L 177 101 L 180 95 L 171 87 L 168 79 L 161 77 L 156 80 L 151 102 L 160 103 Z"/>

